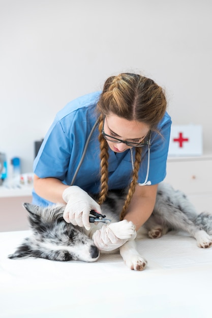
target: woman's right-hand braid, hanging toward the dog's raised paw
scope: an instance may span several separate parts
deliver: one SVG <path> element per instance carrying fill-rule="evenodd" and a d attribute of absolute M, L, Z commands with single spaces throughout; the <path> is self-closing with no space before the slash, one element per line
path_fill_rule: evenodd
<path fill-rule="evenodd" d="M 130 201 L 131 201 L 133 194 L 135 192 L 135 187 L 136 187 L 137 180 L 138 180 L 138 170 L 139 170 L 140 163 L 141 163 L 141 152 L 142 152 L 142 148 L 136 147 L 133 177 L 132 177 L 132 181 L 131 181 L 130 186 L 129 186 L 129 190 L 128 190 L 128 194 L 127 194 L 127 197 L 125 200 L 124 207 L 122 209 L 122 212 L 120 213 L 120 220 L 124 219 L 124 217 L 127 213 L 127 209 L 130 205 Z"/>

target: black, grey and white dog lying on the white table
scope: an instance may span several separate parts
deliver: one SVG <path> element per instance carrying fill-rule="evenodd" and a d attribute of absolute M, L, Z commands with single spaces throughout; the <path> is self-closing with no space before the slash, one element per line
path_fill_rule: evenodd
<path fill-rule="evenodd" d="M 132 222 L 119 221 L 119 212 L 125 197 L 125 192 L 110 192 L 101 207 L 102 213 L 113 222 L 109 225 L 111 230 L 122 239 L 128 238 L 135 228 Z M 68 224 L 63 219 L 64 205 L 42 208 L 24 203 L 24 207 L 29 212 L 32 235 L 25 238 L 17 250 L 9 255 L 10 259 L 33 256 L 57 261 L 98 260 L 100 252 L 94 245 L 92 236 L 102 226 L 100 222 L 98 225 L 91 224 L 91 229 L 86 231 L 84 228 Z M 188 232 L 197 240 L 199 247 L 207 248 L 212 244 L 212 214 L 197 215 L 195 208 L 183 193 L 162 182 L 158 186 L 154 211 L 138 232 L 145 232 L 150 238 L 159 238 L 170 230 Z M 147 262 L 137 251 L 135 241 L 126 242 L 119 251 L 129 268 L 145 268 Z"/>

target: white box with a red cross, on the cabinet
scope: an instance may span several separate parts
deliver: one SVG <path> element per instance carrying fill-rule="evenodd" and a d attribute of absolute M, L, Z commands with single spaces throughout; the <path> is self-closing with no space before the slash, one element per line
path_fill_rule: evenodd
<path fill-rule="evenodd" d="M 201 125 L 172 125 L 169 142 L 169 156 L 202 155 Z"/>

